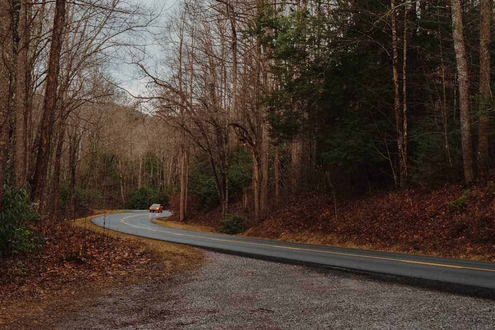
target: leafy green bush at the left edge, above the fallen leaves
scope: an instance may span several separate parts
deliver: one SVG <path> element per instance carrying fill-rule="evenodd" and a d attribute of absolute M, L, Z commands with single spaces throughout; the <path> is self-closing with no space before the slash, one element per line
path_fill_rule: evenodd
<path fill-rule="evenodd" d="M 16 189 L 5 183 L 0 206 L 0 256 L 30 253 L 41 247 L 31 229 L 39 219 L 25 187 Z"/>

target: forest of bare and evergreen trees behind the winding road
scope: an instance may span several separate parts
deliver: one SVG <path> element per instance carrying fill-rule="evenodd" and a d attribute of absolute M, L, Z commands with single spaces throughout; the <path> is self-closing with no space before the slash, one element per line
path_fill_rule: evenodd
<path fill-rule="evenodd" d="M 0 3 L 0 255 L 91 209 L 493 180 L 491 0 L 158 2 Z"/>

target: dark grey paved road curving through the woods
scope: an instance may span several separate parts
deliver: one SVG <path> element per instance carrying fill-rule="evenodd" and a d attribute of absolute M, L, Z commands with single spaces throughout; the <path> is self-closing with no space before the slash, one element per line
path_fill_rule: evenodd
<path fill-rule="evenodd" d="M 495 263 L 200 233 L 167 228 L 150 221 L 170 215 L 168 211 L 149 213 L 146 210 L 100 216 L 92 222 L 131 235 L 495 299 Z"/>

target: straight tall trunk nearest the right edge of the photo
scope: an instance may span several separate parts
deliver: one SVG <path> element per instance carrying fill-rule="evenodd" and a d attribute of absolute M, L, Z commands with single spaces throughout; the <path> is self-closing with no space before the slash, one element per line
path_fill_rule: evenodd
<path fill-rule="evenodd" d="M 478 131 L 478 168 L 480 177 L 490 175 L 489 118 L 490 100 L 490 18 L 492 0 L 480 0 L 480 127 Z"/>

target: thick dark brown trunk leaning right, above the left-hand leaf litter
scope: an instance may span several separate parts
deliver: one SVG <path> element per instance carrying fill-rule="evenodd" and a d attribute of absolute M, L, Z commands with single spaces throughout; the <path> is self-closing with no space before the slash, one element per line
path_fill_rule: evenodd
<path fill-rule="evenodd" d="M 56 0 L 55 15 L 53 18 L 53 30 L 51 32 L 51 45 L 46 79 L 45 101 L 43 117 L 41 120 L 41 136 L 38 145 L 34 177 L 31 183 L 31 200 L 39 202 L 43 200 L 43 189 L 47 175 L 50 140 L 53 130 L 53 122 L 56 109 L 56 94 L 58 86 L 58 71 L 60 68 L 60 50 L 65 23 L 65 0 Z"/>

